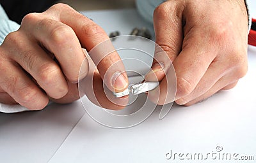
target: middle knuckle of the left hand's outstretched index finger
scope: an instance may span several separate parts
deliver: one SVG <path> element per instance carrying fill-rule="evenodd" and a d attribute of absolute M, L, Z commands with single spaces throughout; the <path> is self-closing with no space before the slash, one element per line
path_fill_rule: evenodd
<path fill-rule="evenodd" d="M 83 25 L 82 31 L 84 34 L 86 34 L 86 36 L 97 37 L 97 36 L 102 36 L 106 34 L 105 31 L 95 23 Z"/>

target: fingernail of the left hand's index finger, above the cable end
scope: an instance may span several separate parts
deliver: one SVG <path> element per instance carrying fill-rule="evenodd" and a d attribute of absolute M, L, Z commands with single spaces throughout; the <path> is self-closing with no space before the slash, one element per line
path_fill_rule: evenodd
<path fill-rule="evenodd" d="M 111 84 L 114 87 L 115 91 L 118 91 L 125 89 L 128 85 L 128 82 L 122 73 L 116 72 L 111 78 Z"/>

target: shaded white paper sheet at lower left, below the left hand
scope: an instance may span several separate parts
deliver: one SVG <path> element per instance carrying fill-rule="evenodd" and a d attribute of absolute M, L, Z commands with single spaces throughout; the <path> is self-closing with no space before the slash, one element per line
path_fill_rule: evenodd
<path fill-rule="evenodd" d="M 0 113 L 1 162 L 47 162 L 83 114 L 80 101 L 51 104 L 42 111 Z"/>

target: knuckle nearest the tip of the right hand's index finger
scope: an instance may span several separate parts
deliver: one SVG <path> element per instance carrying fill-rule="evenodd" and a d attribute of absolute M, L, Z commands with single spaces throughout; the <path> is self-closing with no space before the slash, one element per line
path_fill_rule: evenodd
<path fill-rule="evenodd" d="M 185 78 L 177 78 L 177 94 L 180 97 L 188 96 L 193 91 L 193 85 Z"/>

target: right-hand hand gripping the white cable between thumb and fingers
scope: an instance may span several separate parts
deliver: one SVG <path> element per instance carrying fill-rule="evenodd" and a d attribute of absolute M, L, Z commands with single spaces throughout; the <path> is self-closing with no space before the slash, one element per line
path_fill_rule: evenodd
<path fill-rule="evenodd" d="M 244 0 L 166 1 L 154 11 L 156 43 L 172 60 L 177 76 L 175 102 L 189 106 L 219 90 L 232 89 L 247 71 L 248 16 Z M 155 55 L 160 90 L 149 97 L 157 104 L 171 103 L 164 70 L 170 67 L 161 53 Z M 153 72 L 152 71 L 152 72 Z M 152 74 L 152 73 L 151 73 Z M 150 73 L 147 80 L 153 80 Z M 168 90 L 166 90 L 168 89 Z M 160 94 L 159 101 L 155 96 Z"/>

